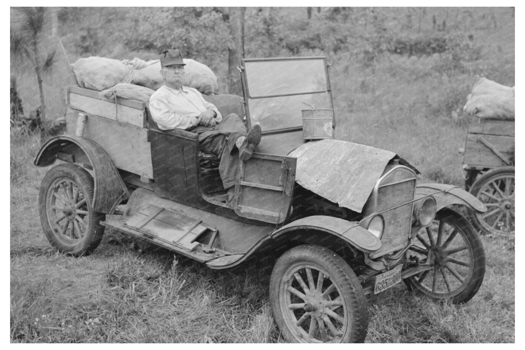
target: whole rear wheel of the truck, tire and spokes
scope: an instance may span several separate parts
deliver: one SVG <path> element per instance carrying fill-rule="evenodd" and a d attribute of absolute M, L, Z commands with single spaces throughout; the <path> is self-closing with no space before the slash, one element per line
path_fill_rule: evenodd
<path fill-rule="evenodd" d="M 92 209 L 93 178 L 75 164 L 49 170 L 38 196 L 40 221 L 47 239 L 61 253 L 88 255 L 99 245 L 106 215 Z"/>

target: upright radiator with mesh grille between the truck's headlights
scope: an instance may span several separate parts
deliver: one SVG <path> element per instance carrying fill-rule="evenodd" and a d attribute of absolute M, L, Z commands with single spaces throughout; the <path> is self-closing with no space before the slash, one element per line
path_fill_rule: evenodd
<path fill-rule="evenodd" d="M 380 187 L 377 193 L 377 212 L 393 208 L 403 202 L 414 199 L 415 179 Z M 387 211 L 382 214 L 385 219 L 385 230 L 381 238 L 383 245 L 373 254 L 376 258 L 395 250 L 404 248 L 408 241 L 412 224 L 412 203 Z"/>

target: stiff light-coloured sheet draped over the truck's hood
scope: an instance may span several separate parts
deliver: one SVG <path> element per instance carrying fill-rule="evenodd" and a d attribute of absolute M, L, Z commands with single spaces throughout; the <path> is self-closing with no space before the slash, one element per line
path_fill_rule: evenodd
<path fill-rule="evenodd" d="M 348 141 L 310 141 L 289 153 L 297 158 L 296 182 L 360 213 L 386 164 L 396 153 Z"/>

